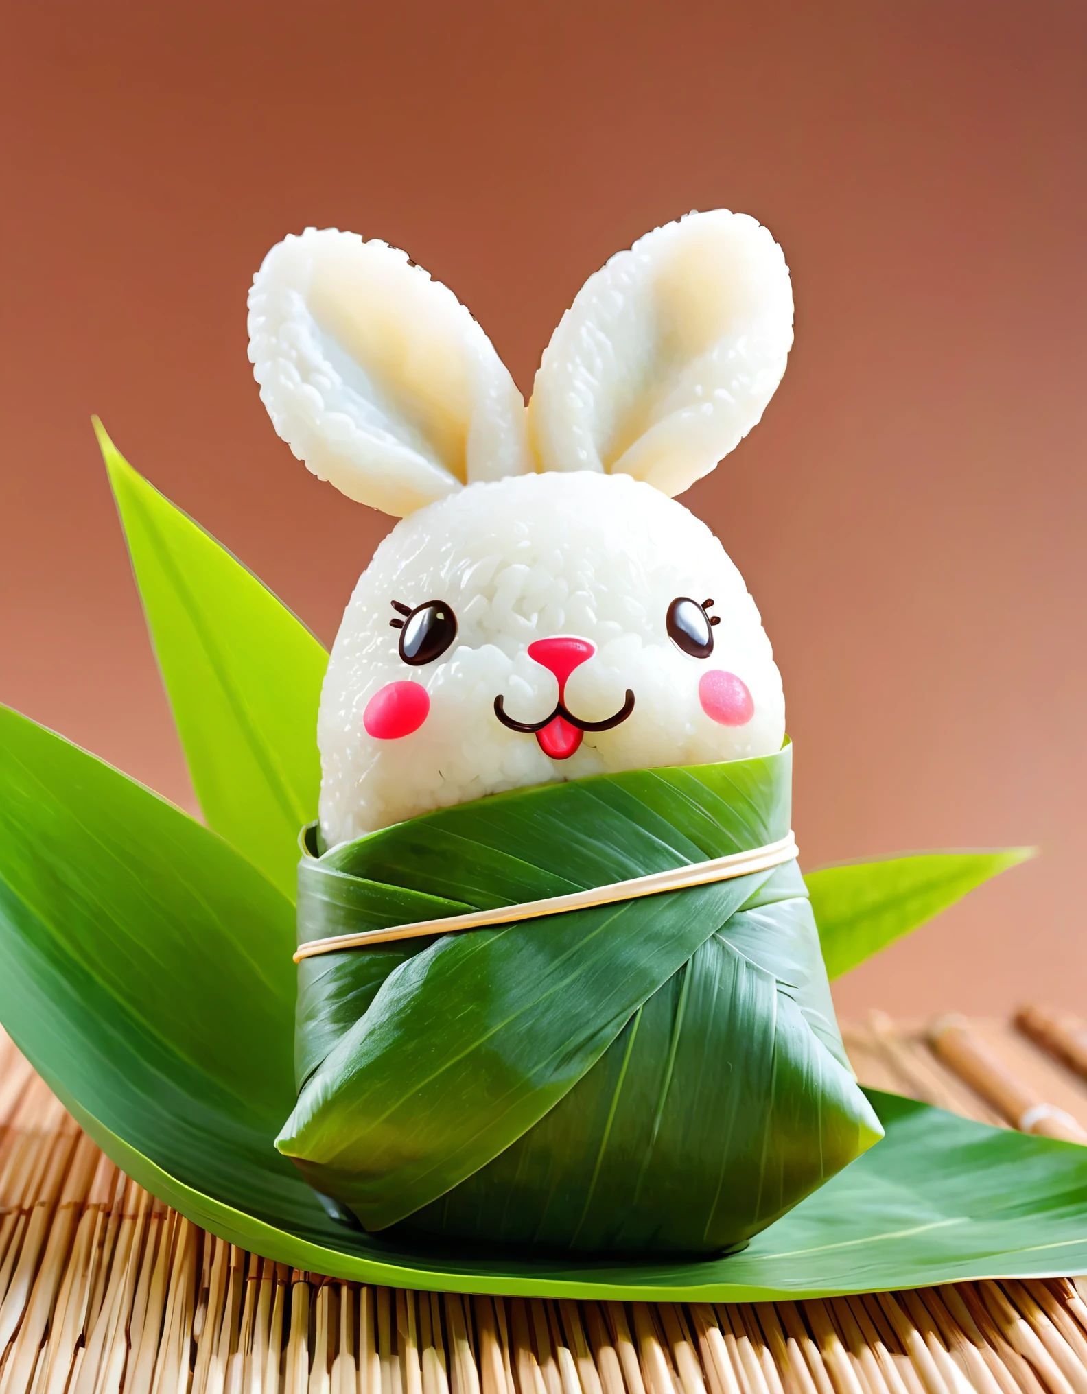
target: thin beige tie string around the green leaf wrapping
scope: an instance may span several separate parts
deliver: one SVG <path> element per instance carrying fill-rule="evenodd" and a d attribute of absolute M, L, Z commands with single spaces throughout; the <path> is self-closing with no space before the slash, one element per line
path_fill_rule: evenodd
<path fill-rule="evenodd" d="M 371 944 L 393 944 L 397 940 L 417 940 L 431 934 L 457 934 L 460 930 L 479 930 L 496 924 L 511 924 L 516 920 L 535 920 L 545 914 L 563 914 L 569 910 L 585 910 L 598 905 L 613 905 L 616 901 L 637 901 L 647 895 L 663 895 L 668 891 L 684 891 L 691 885 L 709 885 L 714 881 L 732 881 L 734 877 L 751 875 L 755 871 L 771 871 L 797 856 L 796 838 L 790 832 L 778 842 L 747 852 L 733 852 L 711 861 L 693 861 L 670 871 L 652 871 L 649 875 L 631 877 L 629 881 L 612 881 L 609 885 L 589 887 L 573 891 L 570 895 L 550 895 L 542 901 L 525 901 L 521 905 L 500 905 L 492 910 L 470 910 L 467 914 L 450 914 L 439 920 L 415 920 L 413 924 L 393 924 L 383 930 L 360 930 L 357 934 L 334 934 L 325 940 L 309 940 L 300 944 L 294 962 L 316 958 L 319 953 L 339 953 L 341 949 L 361 949 Z"/>

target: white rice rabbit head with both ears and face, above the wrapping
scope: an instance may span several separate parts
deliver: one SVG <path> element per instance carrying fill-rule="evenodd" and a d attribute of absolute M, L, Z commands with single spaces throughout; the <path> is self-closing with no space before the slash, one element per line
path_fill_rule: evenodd
<path fill-rule="evenodd" d="M 723 209 L 588 279 L 527 411 L 464 305 L 404 252 L 308 229 L 268 254 L 249 357 L 276 431 L 403 519 L 325 680 L 329 845 L 503 789 L 780 747 L 754 601 L 672 495 L 760 420 L 792 340 L 780 248 Z"/>

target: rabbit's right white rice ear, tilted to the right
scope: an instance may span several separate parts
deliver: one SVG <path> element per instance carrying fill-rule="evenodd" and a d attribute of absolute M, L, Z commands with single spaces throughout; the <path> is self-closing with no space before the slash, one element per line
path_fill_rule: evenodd
<path fill-rule="evenodd" d="M 545 470 L 633 474 L 681 493 L 762 415 L 793 343 L 780 247 L 744 213 L 690 213 L 589 276 L 537 372 Z"/>

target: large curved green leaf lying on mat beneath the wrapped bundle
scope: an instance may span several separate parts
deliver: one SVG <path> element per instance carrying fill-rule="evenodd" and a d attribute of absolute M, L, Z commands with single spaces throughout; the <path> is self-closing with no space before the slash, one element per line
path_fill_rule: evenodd
<path fill-rule="evenodd" d="M 0 710 L 0 1020 L 110 1157 L 213 1234 L 344 1280 L 556 1298 L 1087 1271 L 1087 1149 L 875 1092 L 884 1142 L 732 1257 L 585 1264 L 346 1228 L 273 1147 L 294 1098 L 290 945 L 286 901 L 220 838 Z"/>

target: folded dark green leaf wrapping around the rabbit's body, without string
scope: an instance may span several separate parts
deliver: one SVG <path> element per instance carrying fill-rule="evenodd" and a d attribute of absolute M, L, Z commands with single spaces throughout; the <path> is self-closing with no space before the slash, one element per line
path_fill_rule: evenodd
<path fill-rule="evenodd" d="M 300 868 L 300 941 L 773 843 L 792 747 L 498 795 Z M 744 1245 L 882 1129 L 796 861 L 301 960 L 277 1146 L 368 1230 L 545 1249 Z"/>

